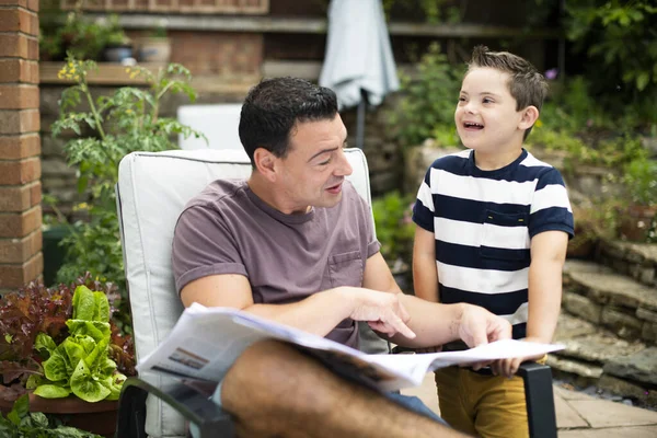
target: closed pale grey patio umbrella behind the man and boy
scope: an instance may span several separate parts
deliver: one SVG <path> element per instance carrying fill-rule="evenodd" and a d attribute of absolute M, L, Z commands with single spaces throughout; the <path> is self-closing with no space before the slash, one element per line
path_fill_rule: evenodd
<path fill-rule="evenodd" d="M 381 0 L 331 0 L 320 85 L 335 91 L 341 110 L 358 105 L 356 146 L 362 149 L 366 105 L 400 88 Z"/>

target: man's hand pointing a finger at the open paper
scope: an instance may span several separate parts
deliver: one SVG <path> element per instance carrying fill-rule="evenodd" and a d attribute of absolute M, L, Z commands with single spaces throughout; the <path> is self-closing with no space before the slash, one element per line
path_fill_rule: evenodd
<path fill-rule="evenodd" d="M 400 302 L 397 293 L 379 292 L 365 288 L 339 288 L 344 298 L 354 303 L 349 318 L 367 321 L 369 326 L 388 336 L 401 334 L 410 339 L 415 333 L 406 325 L 411 315 Z"/>

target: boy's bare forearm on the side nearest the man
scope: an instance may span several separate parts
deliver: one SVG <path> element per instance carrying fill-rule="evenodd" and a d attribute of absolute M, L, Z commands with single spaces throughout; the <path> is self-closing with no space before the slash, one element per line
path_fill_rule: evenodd
<path fill-rule="evenodd" d="M 422 227 L 415 228 L 413 243 L 413 288 L 423 300 L 438 302 L 436 237 Z"/>

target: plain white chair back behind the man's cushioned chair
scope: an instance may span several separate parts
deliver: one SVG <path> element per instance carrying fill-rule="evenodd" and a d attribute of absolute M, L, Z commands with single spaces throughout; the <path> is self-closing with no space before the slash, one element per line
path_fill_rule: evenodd
<path fill-rule="evenodd" d="M 216 105 L 181 105 L 176 118 L 183 125 L 204 134 L 203 138 L 178 135 L 181 149 L 242 149 L 239 126 L 241 103 L 226 103 Z"/>

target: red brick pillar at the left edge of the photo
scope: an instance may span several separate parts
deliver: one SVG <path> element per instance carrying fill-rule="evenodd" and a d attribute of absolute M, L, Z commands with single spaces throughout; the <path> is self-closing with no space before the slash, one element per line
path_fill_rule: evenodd
<path fill-rule="evenodd" d="M 0 0 L 0 291 L 43 272 L 38 0 Z"/>

